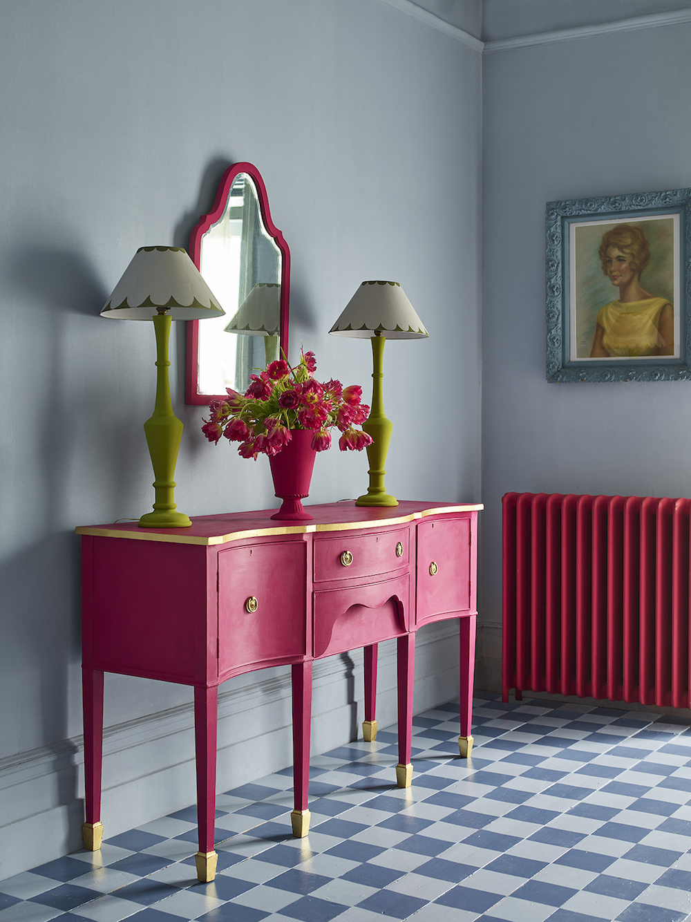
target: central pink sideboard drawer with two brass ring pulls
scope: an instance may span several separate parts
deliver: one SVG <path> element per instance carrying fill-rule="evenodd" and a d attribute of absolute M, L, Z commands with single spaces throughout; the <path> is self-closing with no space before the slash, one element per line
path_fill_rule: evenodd
<path fill-rule="evenodd" d="M 381 576 L 407 570 L 410 531 L 397 528 L 370 535 L 314 539 L 314 582 Z"/>

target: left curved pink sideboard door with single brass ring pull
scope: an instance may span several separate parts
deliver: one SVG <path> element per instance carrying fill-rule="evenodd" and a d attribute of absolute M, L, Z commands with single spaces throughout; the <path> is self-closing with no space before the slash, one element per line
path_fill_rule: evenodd
<path fill-rule="evenodd" d="M 218 674 L 306 653 L 303 541 L 218 554 Z"/>

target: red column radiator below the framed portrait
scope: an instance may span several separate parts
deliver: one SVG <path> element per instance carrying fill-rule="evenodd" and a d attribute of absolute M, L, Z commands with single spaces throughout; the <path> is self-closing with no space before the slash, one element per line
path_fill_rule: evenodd
<path fill-rule="evenodd" d="M 507 493 L 502 694 L 689 707 L 691 500 Z"/>

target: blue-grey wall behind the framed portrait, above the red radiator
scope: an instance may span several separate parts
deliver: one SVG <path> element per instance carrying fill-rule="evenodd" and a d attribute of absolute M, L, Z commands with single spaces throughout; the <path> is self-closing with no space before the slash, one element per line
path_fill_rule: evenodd
<path fill-rule="evenodd" d="M 507 491 L 687 496 L 691 385 L 546 384 L 545 202 L 691 186 L 691 24 L 485 55 L 482 609 Z"/>

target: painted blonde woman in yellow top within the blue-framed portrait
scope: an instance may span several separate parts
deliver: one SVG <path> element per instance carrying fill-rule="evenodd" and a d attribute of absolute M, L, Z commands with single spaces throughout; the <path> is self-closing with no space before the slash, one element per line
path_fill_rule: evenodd
<path fill-rule="evenodd" d="M 617 224 L 603 234 L 598 253 L 603 273 L 618 288 L 619 297 L 597 315 L 591 359 L 673 355 L 672 304 L 640 285 L 640 274 L 650 260 L 646 235 L 634 224 Z"/>

